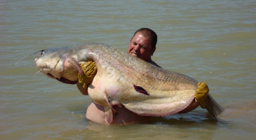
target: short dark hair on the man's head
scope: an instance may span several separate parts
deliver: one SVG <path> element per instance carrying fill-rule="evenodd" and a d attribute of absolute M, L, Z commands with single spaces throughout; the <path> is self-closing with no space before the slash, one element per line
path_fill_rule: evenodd
<path fill-rule="evenodd" d="M 158 42 L 158 35 L 153 30 L 151 30 L 150 28 L 140 28 L 136 30 L 134 35 L 136 35 L 138 32 L 142 33 L 145 37 L 151 38 L 151 46 L 152 46 L 151 50 L 153 48 L 156 48 L 156 45 Z M 132 36 L 132 38 L 134 37 L 134 35 Z"/>

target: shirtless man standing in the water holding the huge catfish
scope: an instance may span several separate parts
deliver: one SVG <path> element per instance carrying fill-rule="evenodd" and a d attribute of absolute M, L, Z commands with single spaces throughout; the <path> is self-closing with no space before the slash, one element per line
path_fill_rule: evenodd
<path fill-rule="evenodd" d="M 151 60 L 151 56 L 153 56 L 156 50 L 156 44 L 157 34 L 149 28 L 141 28 L 133 35 L 128 47 L 128 54 L 160 67 L 157 63 Z M 88 95 L 87 89 L 81 87 L 80 84 L 77 84 L 77 87 L 82 94 Z M 199 103 L 193 101 L 189 107 L 179 113 L 189 112 L 195 109 L 198 105 Z M 86 111 L 86 118 L 99 124 L 128 124 L 146 121 L 151 118 L 150 116 L 139 116 L 122 106 L 113 106 L 113 109 L 115 111 L 113 112 L 113 121 L 108 122 L 108 115 L 106 114 L 107 112 L 105 112 L 105 108 L 102 105 L 92 102 Z"/>

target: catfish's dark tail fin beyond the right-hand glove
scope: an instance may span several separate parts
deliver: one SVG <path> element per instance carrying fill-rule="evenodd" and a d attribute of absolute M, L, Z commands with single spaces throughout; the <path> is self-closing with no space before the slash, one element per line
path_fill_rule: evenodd
<path fill-rule="evenodd" d="M 218 105 L 218 103 L 211 97 L 211 95 L 208 94 L 208 97 L 206 98 L 206 110 L 214 119 L 218 120 L 217 116 L 224 111 L 224 108 Z"/>

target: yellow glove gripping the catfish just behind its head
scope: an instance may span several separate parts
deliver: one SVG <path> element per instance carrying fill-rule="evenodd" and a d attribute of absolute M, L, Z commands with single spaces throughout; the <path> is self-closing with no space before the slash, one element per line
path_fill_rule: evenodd
<path fill-rule="evenodd" d="M 87 89 L 87 85 L 97 73 L 97 66 L 93 61 L 81 63 L 80 66 L 83 70 L 83 75 L 78 73 L 78 83 L 81 84 L 84 89 Z"/>

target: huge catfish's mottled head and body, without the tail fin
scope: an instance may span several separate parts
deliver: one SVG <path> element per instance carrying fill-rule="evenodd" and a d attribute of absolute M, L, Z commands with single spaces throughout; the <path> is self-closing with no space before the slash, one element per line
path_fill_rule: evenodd
<path fill-rule="evenodd" d="M 139 115 L 165 116 L 180 112 L 194 100 L 198 82 L 193 78 L 158 68 L 101 43 L 47 49 L 35 63 L 46 75 L 74 82 L 78 80 L 78 71 L 68 63 L 71 57 L 78 63 L 96 63 L 98 71 L 88 93 L 94 102 L 106 108 L 124 105 Z"/>

